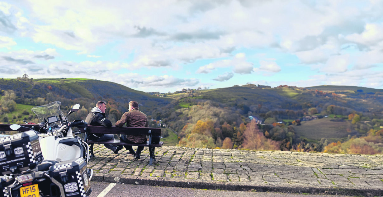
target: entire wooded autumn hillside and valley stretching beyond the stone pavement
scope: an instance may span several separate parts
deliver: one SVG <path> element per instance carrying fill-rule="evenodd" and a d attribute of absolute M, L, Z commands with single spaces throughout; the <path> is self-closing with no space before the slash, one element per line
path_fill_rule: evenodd
<path fill-rule="evenodd" d="M 74 119 L 85 119 L 95 102 L 105 100 L 108 119 L 115 122 L 128 110 L 128 102 L 136 100 L 140 110 L 154 119 L 149 126 L 163 126 L 164 137 L 169 136 L 165 140 L 180 146 L 254 149 L 249 143 L 262 139 L 258 149 L 300 150 L 310 142 L 304 151 L 321 152 L 328 143 L 375 135 L 383 126 L 383 90 L 354 86 L 247 84 L 151 95 L 92 79 L 2 79 L 0 90 L 3 123 L 36 122 L 30 108 L 56 100 L 62 102 L 63 111 L 80 103 L 83 108 L 73 114 Z M 265 124 L 254 128 L 250 117 Z M 258 132 L 260 136 L 251 139 Z"/>

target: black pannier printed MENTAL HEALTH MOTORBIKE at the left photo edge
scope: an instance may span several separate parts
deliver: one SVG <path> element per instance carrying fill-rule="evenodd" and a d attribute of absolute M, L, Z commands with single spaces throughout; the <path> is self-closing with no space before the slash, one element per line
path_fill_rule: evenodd
<path fill-rule="evenodd" d="M 33 169 L 41 163 L 38 135 L 34 131 L 25 131 L 0 138 L 0 173 L 19 174 Z"/>

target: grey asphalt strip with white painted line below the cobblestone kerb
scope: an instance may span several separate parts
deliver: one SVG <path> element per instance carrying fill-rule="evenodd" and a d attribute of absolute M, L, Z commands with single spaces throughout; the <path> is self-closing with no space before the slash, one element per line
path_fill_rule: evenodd
<path fill-rule="evenodd" d="M 303 196 L 320 196 L 320 197 L 334 197 L 340 195 L 311 195 L 311 194 L 285 194 L 276 192 L 255 192 L 255 191 L 222 191 L 222 190 L 203 190 L 181 187 L 158 187 L 158 186 L 144 186 L 132 184 L 119 184 L 110 182 L 97 182 L 92 181 L 92 194 L 90 197 L 137 197 L 137 196 L 217 196 L 217 197 L 303 197 Z"/>

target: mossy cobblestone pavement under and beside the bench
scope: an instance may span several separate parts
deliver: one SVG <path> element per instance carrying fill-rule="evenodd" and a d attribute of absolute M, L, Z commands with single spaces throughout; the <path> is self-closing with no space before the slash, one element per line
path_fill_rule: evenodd
<path fill-rule="evenodd" d="M 135 148 L 135 147 L 133 147 Z M 92 181 L 286 193 L 383 195 L 383 155 L 350 155 L 163 146 L 149 165 L 95 144 Z"/>

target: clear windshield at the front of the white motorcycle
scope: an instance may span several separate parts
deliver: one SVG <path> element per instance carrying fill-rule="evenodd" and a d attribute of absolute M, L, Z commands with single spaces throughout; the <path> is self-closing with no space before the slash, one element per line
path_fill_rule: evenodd
<path fill-rule="evenodd" d="M 47 121 L 48 117 L 51 116 L 57 116 L 59 118 L 59 115 L 61 115 L 62 118 L 64 118 L 64 113 L 60 110 L 61 102 L 55 101 L 53 103 L 48 103 L 46 105 L 40 105 L 37 107 L 33 107 L 31 111 L 33 111 L 37 118 L 39 119 L 40 123 L 44 123 L 44 118 Z"/>

